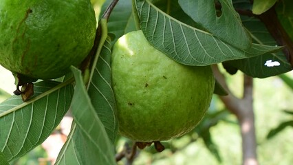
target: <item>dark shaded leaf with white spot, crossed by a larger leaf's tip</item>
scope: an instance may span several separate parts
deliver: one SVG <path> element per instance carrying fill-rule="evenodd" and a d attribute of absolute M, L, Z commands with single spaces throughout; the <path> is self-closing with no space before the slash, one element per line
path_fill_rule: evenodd
<path fill-rule="evenodd" d="M 274 41 L 268 30 L 265 28 L 265 25 L 263 25 L 259 19 L 242 17 L 242 21 L 243 25 L 245 25 L 250 31 L 254 43 L 276 45 L 276 41 Z M 269 63 L 270 61 L 271 63 Z M 225 63 L 225 65 L 230 65 L 231 67 L 240 69 L 241 72 L 254 78 L 276 76 L 292 70 L 292 66 L 287 61 L 285 54 L 281 51 L 236 61 L 227 61 Z M 270 65 L 273 63 L 279 65 Z"/>

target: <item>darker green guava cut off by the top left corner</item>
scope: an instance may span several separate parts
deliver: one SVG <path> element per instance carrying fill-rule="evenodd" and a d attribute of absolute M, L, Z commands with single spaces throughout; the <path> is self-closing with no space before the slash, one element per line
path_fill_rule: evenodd
<path fill-rule="evenodd" d="M 0 65 L 28 78 L 58 78 L 94 44 L 89 0 L 1 0 Z"/>

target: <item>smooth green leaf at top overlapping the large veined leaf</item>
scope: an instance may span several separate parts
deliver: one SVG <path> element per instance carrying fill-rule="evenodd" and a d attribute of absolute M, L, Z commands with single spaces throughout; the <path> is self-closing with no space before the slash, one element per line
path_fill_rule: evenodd
<path fill-rule="evenodd" d="M 239 14 L 233 8 L 232 1 L 220 0 L 220 2 L 221 15 L 217 16 L 214 0 L 179 0 L 184 12 L 208 32 L 241 50 L 249 49 L 252 43 L 251 37 L 242 25 Z"/>

